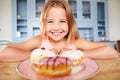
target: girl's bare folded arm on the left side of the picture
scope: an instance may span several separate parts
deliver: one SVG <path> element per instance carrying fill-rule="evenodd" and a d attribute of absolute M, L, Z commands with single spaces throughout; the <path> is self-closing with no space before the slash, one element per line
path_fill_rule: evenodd
<path fill-rule="evenodd" d="M 10 44 L 0 52 L 0 61 L 23 61 L 30 57 L 33 49 L 40 47 L 40 36 L 21 43 Z"/>

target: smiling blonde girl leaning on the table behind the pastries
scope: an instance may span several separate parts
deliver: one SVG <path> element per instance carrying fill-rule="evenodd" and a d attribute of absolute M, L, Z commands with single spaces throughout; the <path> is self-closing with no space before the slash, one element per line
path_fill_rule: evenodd
<path fill-rule="evenodd" d="M 110 46 L 79 37 L 72 10 L 65 0 L 48 0 L 41 14 L 40 29 L 40 35 L 7 46 L 0 52 L 0 61 L 29 59 L 32 50 L 37 48 L 55 50 L 56 53 L 67 49 L 80 49 L 91 59 L 118 57 L 117 52 Z"/>

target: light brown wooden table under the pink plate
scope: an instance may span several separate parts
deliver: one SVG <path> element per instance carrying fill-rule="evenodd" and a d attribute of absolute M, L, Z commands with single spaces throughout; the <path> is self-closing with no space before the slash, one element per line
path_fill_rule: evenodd
<path fill-rule="evenodd" d="M 120 80 L 120 53 L 119 58 L 112 60 L 95 60 L 99 66 L 99 72 L 88 80 Z M 20 62 L 0 63 L 0 80 L 28 80 L 16 72 Z"/>

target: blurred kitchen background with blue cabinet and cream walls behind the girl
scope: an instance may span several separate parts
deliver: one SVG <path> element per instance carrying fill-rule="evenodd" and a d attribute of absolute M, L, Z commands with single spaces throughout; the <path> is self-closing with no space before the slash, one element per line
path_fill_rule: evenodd
<path fill-rule="evenodd" d="M 0 0 L 1 45 L 22 42 L 38 35 L 39 17 L 46 1 Z M 120 0 L 66 1 L 73 10 L 81 37 L 106 42 L 112 47 L 120 40 Z"/>

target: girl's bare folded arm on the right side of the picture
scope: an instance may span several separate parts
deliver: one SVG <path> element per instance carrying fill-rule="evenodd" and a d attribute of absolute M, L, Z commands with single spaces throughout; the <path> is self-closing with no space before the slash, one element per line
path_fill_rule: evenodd
<path fill-rule="evenodd" d="M 102 42 L 90 42 L 85 39 L 79 39 L 78 48 L 82 49 L 85 56 L 91 59 L 112 59 L 117 58 L 118 54 L 111 46 Z"/>

